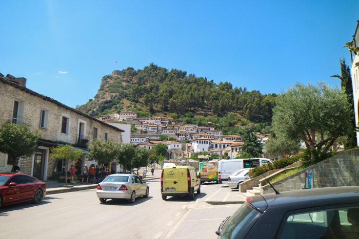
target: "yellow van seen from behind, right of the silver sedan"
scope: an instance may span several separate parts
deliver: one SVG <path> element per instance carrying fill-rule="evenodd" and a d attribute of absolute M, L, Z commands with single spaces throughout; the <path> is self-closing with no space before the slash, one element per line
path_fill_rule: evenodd
<path fill-rule="evenodd" d="M 167 196 L 189 195 L 190 200 L 194 199 L 194 192 L 201 193 L 200 179 L 194 167 L 176 166 L 166 167 L 161 174 L 162 199 Z"/>

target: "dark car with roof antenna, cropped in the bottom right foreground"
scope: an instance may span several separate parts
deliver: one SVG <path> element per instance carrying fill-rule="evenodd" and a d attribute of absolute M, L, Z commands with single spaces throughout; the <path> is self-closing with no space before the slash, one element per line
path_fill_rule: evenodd
<path fill-rule="evenodd" d="M 222 239 L 358 238 L 359 186 L 249 197 L 216 234 Z"/>

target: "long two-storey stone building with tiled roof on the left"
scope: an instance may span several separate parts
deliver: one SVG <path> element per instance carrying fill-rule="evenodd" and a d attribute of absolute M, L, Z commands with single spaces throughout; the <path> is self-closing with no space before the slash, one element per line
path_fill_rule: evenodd
<path fill-rule="evenodd" d="M 81 170 L 84 164 L 95 163 L 87 157 L 87 146 L 93 139 L 113 139 L 121 143 L 122 129 L 95 119 L 50 97 L 26 88 L 24 80 L 0 76 L 0 121 L 24 123 L 31 131 L 39 131 L 36 153 L 29 158 L 20 158 L 21 172 L 41 180 L 47 180 L 54 170 L 62 171 L 62 165 L 54 165 L 49 157 L 52 147 L 70 144 L 84 154 L 76 166 Z M 25 81 L 26 83 L 26 81 Z M 113 168 L 116 165 L 109 165 Z M 8 157 L 0 153 L 0 171 L 10 171 Z"/>

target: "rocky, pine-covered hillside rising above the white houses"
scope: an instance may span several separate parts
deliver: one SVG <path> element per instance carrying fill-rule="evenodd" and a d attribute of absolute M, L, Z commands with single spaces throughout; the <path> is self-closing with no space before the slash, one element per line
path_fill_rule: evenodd
<path fill-rule="evenodd" d="M 182 70 L 169 71 L 153 63 L 143 70 L 129 67 L 121 73 L 104 76 L 94 99 L 77 109 L 94 117 L 122 111 L 133 111 L 143 117 L 170 117 L 175 113 L 182 120 L 185 116 L 192 119 L 231 116 L 232 126 L 249 121 L 269 123 L 272 119 L 274 93 L 262 95 L 246 88 L 233 89 L 229 82 L 215 84 L 213 80 L 187 75 Z"/>

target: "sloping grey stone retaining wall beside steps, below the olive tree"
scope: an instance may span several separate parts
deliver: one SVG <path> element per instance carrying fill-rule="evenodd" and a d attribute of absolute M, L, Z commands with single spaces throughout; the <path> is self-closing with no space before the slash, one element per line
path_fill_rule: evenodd
<path fill-rule="evenodd" d="M 359 185 L 359 148 L 346 150 L 327 160 L 308 167 L 313 169 L 314 188 L 358 186 Z M 305 184 L 305 169 L 294 173 L 284 179 L 272 183 L 279 191 L 292 191 L 302 189 Z M 261 187 L 261 193 L 273 193 L 270 185 Z"/>

